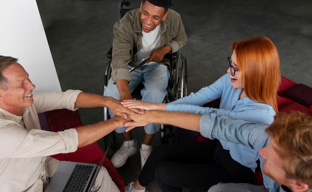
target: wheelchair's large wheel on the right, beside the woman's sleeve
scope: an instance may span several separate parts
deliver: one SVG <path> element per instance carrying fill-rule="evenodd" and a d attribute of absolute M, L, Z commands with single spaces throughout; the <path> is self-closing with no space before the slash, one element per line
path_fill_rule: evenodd
<path fill-rule="evenodd" d="M 186 69 L 186 59 L 181 54 L 178 53 L 176 68 L 175 68 L 175 78 L 174 78 L 174 97 L 179 99 L 183 96 L 187 96 L 187 69 Z"/>

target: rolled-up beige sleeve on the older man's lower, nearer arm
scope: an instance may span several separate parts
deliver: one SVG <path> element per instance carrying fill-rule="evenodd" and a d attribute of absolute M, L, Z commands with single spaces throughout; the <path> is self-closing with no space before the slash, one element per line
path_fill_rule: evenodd
<path fill-rule="evenodd" d="M 40 129 L 27 131 L 23 127 L 11 123 L 6 124 L 5 127 L 0 127 L 0 134 L 0 159 L 69 153 L 76 151 L 78 147 L 76 129 L 66 129 L 59 132 Z"/>

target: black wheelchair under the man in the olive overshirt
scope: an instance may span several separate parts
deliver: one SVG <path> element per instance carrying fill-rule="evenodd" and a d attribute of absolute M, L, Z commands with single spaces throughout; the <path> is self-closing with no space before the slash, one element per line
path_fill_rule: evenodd
<path fill-rule="evenodd" d="M 126 14 L 127 11 L 131 9 L 126 9 L 124 6 L 130 5 L 130 1 L 122 1 L 121 8 L 120 8 L 120 14 L 121 18 Z M 170 6 L 174 5 L 174 2 L 170 2 Z M 112 61 L 112 47 L 107 52 L 107 58 L 109 59 L 109 64 L 106 67 L 105 74 L 104 74 L 104 92 L 107 89 L 108 81 L 111 78 L 111 61 Z M 170 64 L 167 65 L 169 70 L 169 80 L 168 80 L 168 86 L 167 86 L 167 95 L 165 96 L 163 103 L 174 101 L 178 98 L 181 98 L 183 96 L 187 95 L 187 69 L 186 69 L 186 59 L 185 57 L 179 52 L 175 53 L 168 53 L 164 56 L 164 58 L 170 60 Z M 141 83 L 132 94 L 133 98 L 135 99 L 141 99 L 141 93 L 140 91 L 144 88 L 144 85 Z M 110 118 L 108 108 L 104 107 L 104 120 L 108 120 Z M 168 130 L 168 134 L 166 134 L 166 130 Z M 114 135 L 115 132 L 113 132 L 113 140 L 115 140 L 116 136 Z M 109 135 L 104 137 L 105 146 L 107 146 Z M 160 124 L 160 141 L 161 144 L 164 143 L 174 143 L 175 142 L 175 135 L 173 133 L 173 127 L 171 125 L 163 125 Z"/>

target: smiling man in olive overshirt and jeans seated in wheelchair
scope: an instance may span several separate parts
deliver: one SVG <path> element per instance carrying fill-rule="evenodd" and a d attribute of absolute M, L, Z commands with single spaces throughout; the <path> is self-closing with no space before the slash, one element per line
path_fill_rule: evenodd
<path fill-rule="evenodd" d="M 133 99 L 131 93 L 143 83 L 142 100 L 164 100 L 170 77 L 166 65 L 170 60 L 164 59 L 164 56 L 177 52 L 187 41 L 181 17 L 169 9 L 170 4 L 170 0 L 142 0 L 140 8 L 129 10 L 115 23 L 112 73 L 104 96 L 119 100 Z M 140 67 L 131 70 L 140 63 Z M 109 113 L 111 117 L 114 115 L 111 111 Z M 152 151 L 152 139 L 159 127 L 159 124 L 144 127 L 145 138 L 140 149 L 141 168 Z M 116 129 L 125 140 L 111 159 L 116 168 L 123 166 L 129 157 L 137 153 L 137 141 L 125 129 Z"/>

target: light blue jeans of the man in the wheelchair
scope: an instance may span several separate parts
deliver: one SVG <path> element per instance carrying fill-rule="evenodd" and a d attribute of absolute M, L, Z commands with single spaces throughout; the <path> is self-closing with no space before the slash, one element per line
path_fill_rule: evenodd
<path fill-rule="evenodd" d="M 130 69 L 130 66 L 129 66 Z M 143 65 L 130 73 L 131 82 L 129 89 L 132 93 L 140 83 L 143 83 L 144 88 L 141 90 L 142 100 L 149 102 L 162 102 L 167 95 L 167 86 L 169 80 L 169 70 L 165 64 L 154 63 Z M 119 91 L 116 84 L 113 84 L 112 78 L 108 81 L 104 96 L 112 96 L 119 99 Z M 114 113 L 109 110 L 111 117 Z M 159 131 L 159 124 L 147 124 L 144 129 L 147 134 L 155 134 Z M 116 129 L 117 133 L 124 133 L 126 127 Z"/>

